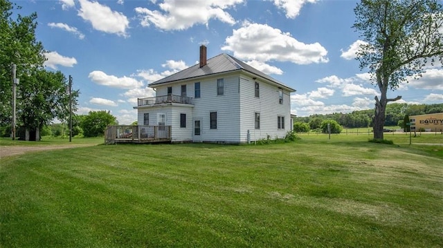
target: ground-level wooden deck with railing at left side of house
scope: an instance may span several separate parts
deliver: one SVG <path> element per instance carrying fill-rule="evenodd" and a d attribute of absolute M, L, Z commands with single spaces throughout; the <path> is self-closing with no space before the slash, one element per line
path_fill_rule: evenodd
<path fill-rule="evenodd" d="M 105 144 L 171 142 L 171 126 L 108 126 Z"/>

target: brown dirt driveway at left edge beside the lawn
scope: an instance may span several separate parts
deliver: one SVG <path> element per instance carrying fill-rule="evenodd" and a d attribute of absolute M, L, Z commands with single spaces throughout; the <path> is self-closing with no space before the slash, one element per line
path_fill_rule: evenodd
<path fill-rule="evenodd" d="M 48 151 L 55 149 L 70 149 L 74 147 L 96 146 L 97 144 L 63 144 L 59 146 L 0 146 L 0 158 L 30 153 L 35 151 Z"/>

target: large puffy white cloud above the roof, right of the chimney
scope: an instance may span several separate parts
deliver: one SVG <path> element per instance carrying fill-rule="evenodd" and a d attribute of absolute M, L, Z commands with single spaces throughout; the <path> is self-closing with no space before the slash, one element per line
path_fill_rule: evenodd
<path fill-rule="evenodd" d="M 289 32 L 266 24 L 245 22 L 233 30 L 221 50 L 233 51 L 234 57 L 246 61 L 289 61 L 294 64 L 327 63 L 327 50 L 319 43 L 304 44 Z"/>

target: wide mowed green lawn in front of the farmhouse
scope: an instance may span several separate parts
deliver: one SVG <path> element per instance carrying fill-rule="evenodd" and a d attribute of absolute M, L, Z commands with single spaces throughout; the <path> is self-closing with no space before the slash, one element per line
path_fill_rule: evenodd
<path fill-rule="evenodd" d="M 1 158 L 0 247 L 441 247 L 443 146 L 301 137 Z"/>

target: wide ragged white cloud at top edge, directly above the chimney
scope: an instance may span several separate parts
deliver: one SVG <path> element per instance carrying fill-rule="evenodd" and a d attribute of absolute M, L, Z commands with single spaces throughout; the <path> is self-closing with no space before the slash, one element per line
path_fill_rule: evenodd
<path fill-rule="evenodd" d="M 197 23 L 208 26 L 210 19 L 233 25 L 235 19 L 225 10 L 244 0 L 164 0 L 159 10 L 135 8 L 142 26 L 154 24 L 162 30 L 185 30 Z M 154 2 L 153 2 L 154 3 Z"/>

